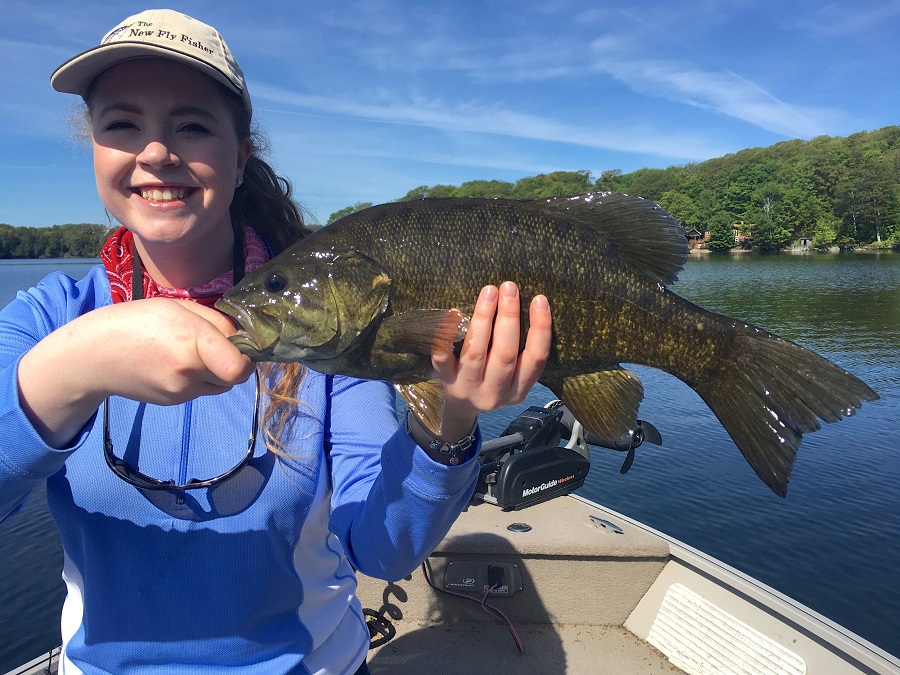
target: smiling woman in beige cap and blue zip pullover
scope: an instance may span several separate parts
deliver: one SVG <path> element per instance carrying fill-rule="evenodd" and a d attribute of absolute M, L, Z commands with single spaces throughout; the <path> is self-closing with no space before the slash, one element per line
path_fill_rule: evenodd
<path fill-rule="evenodd" d="M 215 29 L 142 12 L 51 84 L 85 101 L 98 192 L 121 224 L 102 265 L 51 274 L 0 312 L 0 518 L 46 483 L 65 551 L 62 669 L 367 673 L 354 570 L 403 577 L 446 534 L 478 475 L 479 412 L 540 376 L 546 302 L 524 355 L 512 284 L 481 294 L 459 356 L 432 355 L 440 440 L 475 435 L 451 466 L 438 439 L 398 424 L 388 384 L 259 372 L 228 340 L 212 305 L 307 233 Z"/>

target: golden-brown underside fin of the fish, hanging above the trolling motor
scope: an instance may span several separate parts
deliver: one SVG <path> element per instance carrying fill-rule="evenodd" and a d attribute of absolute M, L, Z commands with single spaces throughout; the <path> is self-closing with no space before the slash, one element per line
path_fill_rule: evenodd
<path fill-rule="evenodd" d="M 585 429 L 617 439 L 637 424 L 644 387 L 637 375 L 615 366 L 545 383 Z"/>

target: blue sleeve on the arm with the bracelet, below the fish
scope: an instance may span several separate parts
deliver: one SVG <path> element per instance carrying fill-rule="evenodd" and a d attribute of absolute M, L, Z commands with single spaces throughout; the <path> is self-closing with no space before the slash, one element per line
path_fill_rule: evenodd
<path fill-rule="evenodd" d="M 435 462 L 398 424 L 389 384 L 333 378 L 331 386 L 331 530 L 356 569 L 401 579 L 468 504 L 478 479 L 477 452 L 457 466 Z M 476 433 L 476 446 L 480 440 Z"/>

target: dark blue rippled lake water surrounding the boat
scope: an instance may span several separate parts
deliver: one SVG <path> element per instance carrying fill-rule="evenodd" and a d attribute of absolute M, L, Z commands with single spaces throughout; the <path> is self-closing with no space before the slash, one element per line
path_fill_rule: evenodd
<path fill-rule="evenodd" d="M 0 303 L 89 261 L 0 261 Z M 687 386 L 634 368 L 663 446 L 594 449 L 580 494 L 666 532 L 900 654 L 900 255 L 692 257 L 673 289 L 830 358 L 881 395 L 804 437 L 788 498 L 756 477 Z M 526 405 L 552 396 L 536 387 Z M 518 409 L 516 409 L 518 410 Z M 486 436 L 516 410 L 485 416 Z M 526 512 L 527 513 L 527 512 Z M 0 525 L 0 673 L 59 643 L 62 553 L 41 491 Z"/>

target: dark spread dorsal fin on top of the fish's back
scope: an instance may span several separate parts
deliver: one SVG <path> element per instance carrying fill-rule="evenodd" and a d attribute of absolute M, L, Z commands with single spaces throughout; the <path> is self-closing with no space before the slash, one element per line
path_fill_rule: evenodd
<path fill-rule="evenodd" d="M 688 257 L 684 228 L 657 204 L 612 192 L 531 202 L 592 230 L 638 271 L 664 286 L 675 283 Z"/>

